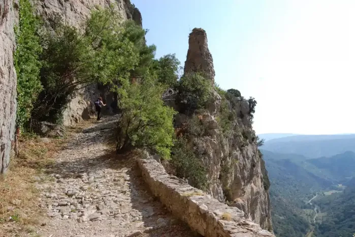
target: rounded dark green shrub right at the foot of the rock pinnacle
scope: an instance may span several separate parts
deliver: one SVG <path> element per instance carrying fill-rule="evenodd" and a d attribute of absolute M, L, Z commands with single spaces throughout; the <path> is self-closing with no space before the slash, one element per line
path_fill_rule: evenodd
<path fill-rule="evenodd" d="M 189 114 L 207 107 L 212 84 L 200 73 L 188 73 L 180 78 L 178 91 L 180 112 Z"/>

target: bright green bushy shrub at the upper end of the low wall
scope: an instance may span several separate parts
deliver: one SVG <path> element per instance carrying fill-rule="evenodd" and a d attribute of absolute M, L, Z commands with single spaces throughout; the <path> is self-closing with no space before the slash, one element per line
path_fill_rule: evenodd
<path fill-rule="evenodd" d="M 142 83 L 124 87 L 125 96 L 120 102 L 122 114 L 118 121 L 118 153 L 144 147 L 156 151 L 164 159 L 170 157 L 175 111 L 164 105 L 161 99 L 164 88 L 155 83 L 152 77 L 145 77 Z"/>

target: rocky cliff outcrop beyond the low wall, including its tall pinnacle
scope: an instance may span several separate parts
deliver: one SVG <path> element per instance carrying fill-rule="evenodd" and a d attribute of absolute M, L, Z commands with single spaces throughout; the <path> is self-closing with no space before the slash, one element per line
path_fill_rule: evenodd
<path fill-rule="evenodd" d="M 190 71 L 203 71 L 211 83 L 214 81 L 207 34 L 200 28 L 193 29 L 189 36 L 185 73 Z M 218 129 L 220 104 L 221 97 L 213 90 L 208 111 L 202 114 L 201 120 L 208 134 L 191 139 L 208 170 L 209 193 L 219 201 L 227 199 L 230 205 L 242 210 L 246 218 L 272 230 L 268 185 L 265 185 L 269 180 L 250 123 L 249 103 L 240 100 L 234 107 L 238 116 L 232 121 L 228 134 Z"/>

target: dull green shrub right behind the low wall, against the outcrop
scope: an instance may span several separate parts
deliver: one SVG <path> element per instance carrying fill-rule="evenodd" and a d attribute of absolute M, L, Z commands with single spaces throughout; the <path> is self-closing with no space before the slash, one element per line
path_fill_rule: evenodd
<path fill-rule="evenodd" d="M 184 138 L 175 141 L 173 146 L 171 164 L 176 171 L 176 176 L 188 179 L 191 186 L 206 190 L 208 188 L 207 171 L 200 164 L 199 159 L 188 149 Z"/>

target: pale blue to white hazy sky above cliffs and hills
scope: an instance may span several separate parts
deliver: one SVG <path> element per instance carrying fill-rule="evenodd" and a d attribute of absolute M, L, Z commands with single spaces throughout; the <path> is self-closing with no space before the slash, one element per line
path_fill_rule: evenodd
<path fill-rule="evenodd" d="M 256 133 L 355 133 L 355 1 L 132 0 L 157 57 L 207 32 L 225 90 L 256 99 Z"/>

